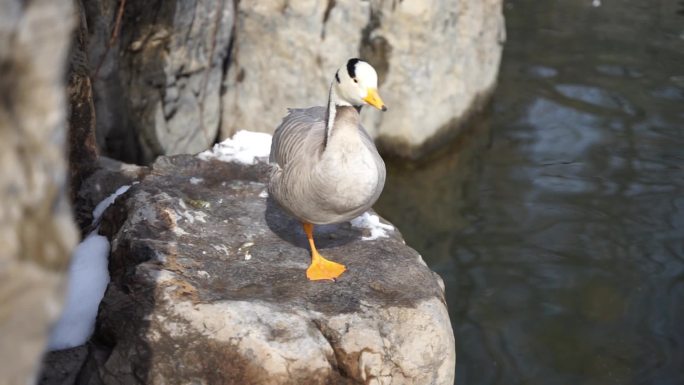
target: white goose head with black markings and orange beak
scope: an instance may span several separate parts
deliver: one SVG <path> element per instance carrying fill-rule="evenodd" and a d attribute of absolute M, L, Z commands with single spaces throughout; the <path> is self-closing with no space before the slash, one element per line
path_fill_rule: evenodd
<path fill-rule="evenodd" d="M 378 94 L 378 74 L 363 60 L 349 59 L 347 64 L 340 67 L 335 72 L 332 91 L 336 105 L 356 107 L 368 104 L 387 111 Z"/>

